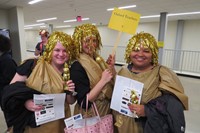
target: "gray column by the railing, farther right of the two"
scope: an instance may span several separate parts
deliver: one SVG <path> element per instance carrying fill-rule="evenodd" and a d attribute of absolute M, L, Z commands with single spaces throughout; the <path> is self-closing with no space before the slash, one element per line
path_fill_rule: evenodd
<path fill-rule="evenodd" d="M 183 38 L 184 20 L 178 20 L 177 31 L 176 31 L 176 44 L 174 52 L 173 70 L 180 70 L 179 64 L 181 59 L 181 46 Z"/>

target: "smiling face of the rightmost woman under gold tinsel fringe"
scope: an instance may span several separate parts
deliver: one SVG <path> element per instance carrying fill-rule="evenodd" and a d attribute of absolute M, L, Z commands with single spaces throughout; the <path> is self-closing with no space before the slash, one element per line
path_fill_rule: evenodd
<path fill-rule="evenodd" d="M 152 52 L 148 47 L 140 45 L 130 53 L 130 60 L 136 69 L 148 69 L 153 66 Z"/>

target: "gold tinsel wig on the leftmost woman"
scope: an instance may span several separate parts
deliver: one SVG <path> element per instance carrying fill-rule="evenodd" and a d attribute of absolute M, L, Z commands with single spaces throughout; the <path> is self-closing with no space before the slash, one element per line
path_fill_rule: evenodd
<path fill-rule="evenodd" d="M 75 59 L 73 51 L 74 45 L 71 36 L 64 32 L 55 31 L 50 35 L 44 54 L 41 56 L 41 58 L 50 63 L 52 59 L 52 52 L 57 42 L 60 42 L 66 48 L 66 52 L 69 54 L 68 62 L 71 63 L 71 61 Z"/>

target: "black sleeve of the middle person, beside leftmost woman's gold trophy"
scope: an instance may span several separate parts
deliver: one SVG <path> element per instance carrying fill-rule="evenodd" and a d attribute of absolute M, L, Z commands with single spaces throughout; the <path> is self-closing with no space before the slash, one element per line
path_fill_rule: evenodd
<path fill-rule="evenodd" d="M 79 106 L 83 101 L 82 108 L 86 108 L 86 96 L 90 92 L 90 82 L 85 69 L 78 61 L 75 61 L 70 68 L 70 78 L 75 83 L 75 91 L 77 102 Z M 88 102 L 88 108 L 91 106 L 91 102 Z"/>

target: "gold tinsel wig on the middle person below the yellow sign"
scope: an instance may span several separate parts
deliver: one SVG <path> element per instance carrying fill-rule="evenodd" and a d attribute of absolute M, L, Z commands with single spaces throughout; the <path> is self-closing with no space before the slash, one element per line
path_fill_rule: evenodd
<path fill-rule="evenodd" d="M 76 54 L 79 55 L 82 52 L 82 41 L 85 40 L 87 37 L 95 36 L 97 39 L 97 48 L 95 51 L 100 50 L 102 46 L 101 37 L 97 27 L 92 24 L 83 24 L 80 26 L 75 27 L 73 40 L 76 46 Z"/>

